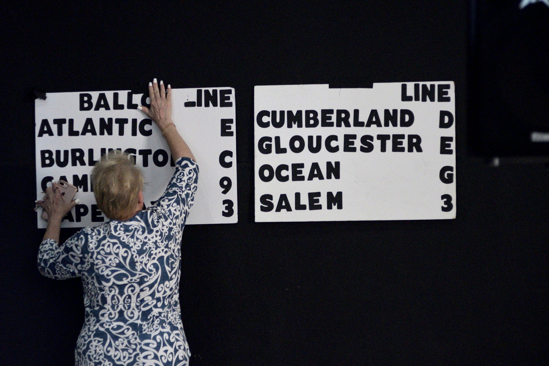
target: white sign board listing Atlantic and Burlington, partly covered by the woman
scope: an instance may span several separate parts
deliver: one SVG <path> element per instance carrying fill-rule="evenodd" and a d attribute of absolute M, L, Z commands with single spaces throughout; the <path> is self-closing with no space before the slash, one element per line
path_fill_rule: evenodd
<path fill-rule="evenodd" d="M 148 102 L 148 95 L 130 91 L 48 93 L 46 100 L 36 100 L 36 197 L 42 199 L 52 179 L 79 187 L 80 204 L 62 227 L 107 221 L 97 208 L 90 174 L 94 161 L 111 149 L 126 151 L 142 168 L 146 206 L 164 193 L 174 165 L 159 128 L 137 110 Z M 237 222 L 234 89 L 173 89 L 172 105 L 173 122 L 199 166 L 187 224 Z M 45 228 L 41 211 L 37 224 Z"/>

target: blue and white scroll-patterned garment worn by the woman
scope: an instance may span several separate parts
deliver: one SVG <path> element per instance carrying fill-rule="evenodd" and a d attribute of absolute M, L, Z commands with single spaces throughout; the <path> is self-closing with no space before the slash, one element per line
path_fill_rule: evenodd
<path fill-rule="evenodd" d="M 166 192 L 147 210 L 84 228 L 61 246 L 51 239 L 40 245 L 40 273 L 82 278 L 86 313 L 77 366 L 188 364 L 179 305 L 181 237 L 197 181 L 197 164 L 182 157 Z"/>

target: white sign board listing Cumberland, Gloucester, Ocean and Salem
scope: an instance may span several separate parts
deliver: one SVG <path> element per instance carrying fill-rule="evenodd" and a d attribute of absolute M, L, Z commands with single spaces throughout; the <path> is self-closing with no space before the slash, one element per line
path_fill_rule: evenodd
<path fill-rule="evenodd" d="M 256 86 L 255 221 L 456 217 L 453 82 Z"/>

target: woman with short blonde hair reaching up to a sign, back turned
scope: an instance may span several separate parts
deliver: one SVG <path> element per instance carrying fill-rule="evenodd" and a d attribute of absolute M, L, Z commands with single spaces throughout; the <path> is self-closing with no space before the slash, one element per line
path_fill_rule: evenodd
<path fill-rule="evenodd" d="M 189 348 L 179 305 L 181 237 L 197 188 L 198 166 L 171 120 L 171 87 L 149 83 L 150 108 L 166 139 L 175 173 L 164 195 L 143 208 L 143 177 L 120 153 L 104 156 L 92 172 L 97 205 L 109 222 L 84 228 L 63 245 L 65 204 L 57 184 L 39 202 L 48 213 L 38 269 L 49 278 L 81 277 L 85 323 L 76 365 L 187 365 Z"/>

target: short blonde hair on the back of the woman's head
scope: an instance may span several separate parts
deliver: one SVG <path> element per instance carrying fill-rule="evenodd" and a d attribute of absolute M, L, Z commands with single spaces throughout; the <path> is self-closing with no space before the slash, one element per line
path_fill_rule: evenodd
<path fill-rule="evenodd" d="M 93 194 L 97 206 L 110 219 L 125 220 L 135 213 L 143 174 L 128 154 L 110 151 L 92 170 Z"/>

